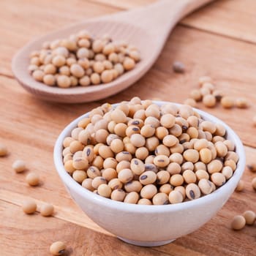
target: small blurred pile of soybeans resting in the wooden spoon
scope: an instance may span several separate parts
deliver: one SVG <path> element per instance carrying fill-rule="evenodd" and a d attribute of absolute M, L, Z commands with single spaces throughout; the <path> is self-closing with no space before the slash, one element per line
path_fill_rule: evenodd
<path fill-rule="evenodd" d="M 30 54 L 29 72 L 47 86 L 69 88 L 110 83 L 135 67 L 140 53 L 108 35 L 94 38 L 83 30 L 66 39 L 44 42 Z"/>

